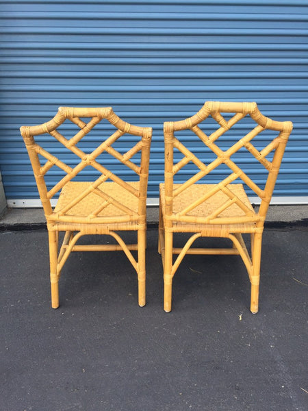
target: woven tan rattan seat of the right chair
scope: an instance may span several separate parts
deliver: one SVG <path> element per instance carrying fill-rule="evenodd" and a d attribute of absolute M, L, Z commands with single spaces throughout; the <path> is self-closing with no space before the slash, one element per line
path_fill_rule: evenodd
<path fill-rule="evenodd" d="M 181 184 L 173 184 L 174 190 L 177 190 Z M 205 195 L 209 190 L 216 187 L 217 184 L 194 184 L 187 189 L 183 190 L 179 195 L 174 197 L 172 210 L 173 214 L 177 214 L 184 210 L 190 204 L 194 203 L 197 199 Z M 246 192 L 244 191 L 243 184 L 229 184 L 227 186 L 231 192 L 233 192 L 244 204 L 256 215 L 251 206 Z M 160 201 L 162 204 L 162 214 L 165 214 L 165 184 L 159 185 L 160 192 Z M 206 201 L 198 205 L 196 208 L 193 208 L 188 212 L 187 216 L 195 217 L 207 217 L 211 213 L 215 212 L 224 202 L 229 199 L 227 195 L 222 191 L 216 192 L 215 195 L 209 197 Z M 235 203 L 229 206 L 227 209 L 223 210 L 218 216 L 219 217 L 233 217 L 238 218 L 238 223 L 233 224 L 207 224 L 207 223 L 186 223 L 182 221 L 174 221 L 172 223 L 173 231 L 180 232 L 206 232 L 208 236 L 221 236 L 225 232 L 226 234 L 235 233 L 235 232 L 253 232 L 255 230 L 255 223 L 241 223 L 241 218 L 245 217 L 246 214 Z"/>

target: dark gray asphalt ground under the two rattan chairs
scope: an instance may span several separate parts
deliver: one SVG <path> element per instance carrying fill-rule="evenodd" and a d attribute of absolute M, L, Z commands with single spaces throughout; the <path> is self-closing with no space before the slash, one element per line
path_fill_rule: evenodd
<path fill-rule="evenodd" d="M 122 252 L 73 253 L 52 310 L 47 232 L 0 241 L 1 410 L 308 409 L 307 228 L 266 229 L 257 315 L 237 256 L 187 256 L 166 314 L 156 229 L 144 308 Z"/>

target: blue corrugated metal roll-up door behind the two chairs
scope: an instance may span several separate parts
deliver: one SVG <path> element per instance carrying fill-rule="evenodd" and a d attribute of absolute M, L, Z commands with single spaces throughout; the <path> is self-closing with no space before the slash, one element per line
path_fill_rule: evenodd
<path fill-rule="evenodd" d="M 307 1 L 0 5 L 0 166 L 11 206 L 38 199 L 20 125 L 43 123 L 60 105 L 112 105 L 126 121 L 153 126 L 149 197 L 157 198 L 162 123 L 206 100 L 257 101 L 264 114 L 293 121 L 275 195 L 307 201 Z"/>

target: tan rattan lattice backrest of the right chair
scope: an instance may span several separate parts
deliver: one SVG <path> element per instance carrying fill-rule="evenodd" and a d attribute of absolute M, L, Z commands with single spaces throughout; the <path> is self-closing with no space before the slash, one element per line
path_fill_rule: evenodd
<path fill-rule="evenodd" d="M 231 119 L 226 120 L 221 113 L 234 113 Z M 225 132 L 227 132 L 236 123 L 244 119 L 246 115 L 251 116 L 253 121 L 257 123 L 250 132 L 239 138 L 231 147 L 226 150 L 222 150 L 216 144 L 216 140 L 220 138 Z M 219 125 L 209 136 L 205 134 L 198 127 L 199 123 L 202 123 L 205 119 L 211 116 Z M 180 130 L 190 129 L 201 142 L 204 143 L 208 149 L 214 153 L 214 160 L 205 164 L 195 155 L 190 149 L 185 147 L 178 138 L 175 137 L 175 132 Z M 257 149 L 255 145 L 251 142 L 253 138 L 258 136 L 264 130 L 270 129 L 279 132 L 278 136 L 274 138 L 264 149 Z M 181 221 L 181 219 L 188 220 L 188 213 L 194 210 L 196 207 L 200 206 L 217 192 L 221 191 L 227 196 L 227 201 L 220 204 L 210 216 L 207 216 L 207 223 L 219 223 L 217 217 L 224 210 L 227 210 L 230 206 L 235 203 L 248 217 L 251 221 L 262 221 L 265 219 L 266 212 L 268 210 L 268 205 L 272 197 L 272 192 L 274 190 L 274 184 L 277 179 L 279 172 L 279 167 L 281 165 L 281 160 L 285 150 L 285 145 L 287 139 L 292 131 L 292 123 L 290 121 L 272 121 L 266 116 L 259 112 L 256 103 L 227 103 L 219 101 L 207 101 L 203 108 L 199 110 L 194 116 L 177 122 L 166 122 L 164 123 L 164 134 L 165 134 L 165 190 L 166 190 L 166 213 L 174 216 L 175 221 Z M 248 175 L 236 164 L 235 160 L 231 157 L 237 153 L 240 149 L 245 148 L 253 158 L 264 167 L 268 172 L 268 177 L 266 179 L 266 184 L 264 189 L 260 188 L 256 182 L 253 181 Z M 183 158 L 174 164 L 174 150 L 177 149 L 183 154 Z M 272 160 L 268 160 L 268 155 L 273 153 Z M 180 186 L 173 186 L 173 177 L 188 163 L 192 162 L 198 169 L 198 171 L 192 175 L 185 183 Z M 210 190 L 205 192 L 204 195 L 198 198 L 197 201 L 186 205 L 183 210 L 177 212 L 177 214 L 172 214 L 172 201 L 181 192 L 188 189 L 195 183 L 198 183 L 203 177 L 209 175 L 211 171 L 217 169 L 221 164 L 225 164 L 230 170 L 226 178 L 222 179 L 221 182 L 214 185 Z M 235 192 L 228 188 L 228 185 L 235 182 L 236 179 L 241 179 L 246 186 L 251 188 L 253 192 L 261 199 L 261 206 L 259 208 L 258 214 L 252 212 L 251 208 L 248 207 L 241 199 L 236 195 Z M 226 220 L 226 219 L 224 219 Z M 242 222 L 243 219 L 239 219 Z M 231 222 L 231 220 L 230 220 Z M 235 223 L 234 219 L 232 223 Z"/>

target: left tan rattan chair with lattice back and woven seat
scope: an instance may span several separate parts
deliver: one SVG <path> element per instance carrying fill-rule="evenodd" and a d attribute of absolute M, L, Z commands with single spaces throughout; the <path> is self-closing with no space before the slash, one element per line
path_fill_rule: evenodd
<path fill-rule="evenodd" d="M 84 119 L 90 118 L 86 123 Z M 115 132 L 109 138 L 99 136 L 98 147 L 91 153 L 85 153 L 80 143 L 101 120 L 106 119 L 114 125 Z M 65 138 L 58 127 L 69 120 L 79 132 L 71 138 Z M 72 126 L 70 123 L 70 127 Z M 77 127 L 76 127 L 77 125 Z M 100 125 L 102 126 L 102 125 Z M 112 127 L 109 125 L 109 127 Z M 101 130 L 100 130 L 101 132 Z M 38 192 L 47 219 L 49 234 L 49 257 L 51 278 L 51 305 L 59 306 L 58 282 L 60 272 L 71 251 L 116 251 L 125 252 L 127 258 L 138 274 L 138 301 L 140 306 L 145 304 L 145 248 L 146 248 L 146 190 L 149 176 L 149 151 L 152 129 L 136 127 L 121 120 L 112 108 L 70 108 L 60 107 L 51 121 L 32 127 L 21 127 L 21 134 L 29 153 L 31 165 L 36 177 Z M 49 134 L 60 142 L 62 149 L 66 147 L 70 155 L 76 159 L 77 165 L 70 167 L 59 160 L 55 155 L 43 149 L 34 140 L 34 136 Z M 138 142 L 125 154 L 121 154 L 112 145 L 124 134 L 140 136 Z M 46 137 L 45 137 L 46 139 Z M 130 137 L 131 139 L 131 137 Z M 38 140 L 38 138 L 36 138 Z M 54 141 L 54 144 L 57 144 Z M 137 140 L 136 138 L 134 140 Z M 92 140 L 93 141 L 93 140 Z M 91 149 L 93 143 L 90 143 Z M 127 143 L 126 143 L 127 144 Z M 136 144 L 136 145 L 135 145 Z M 49 145 L 51 145 L 49 139 Z M 97 146 L 96 145 L 96 146 Z M 85 150 L 86 151 L 86 150 Z M 131 161 L 133 155 L 138 155 L 138 162 Z M 72 154 L 73 153 L 73 154 Z M 100 155 L 109 153 L 119 162 L 136 173 L 136 182 L 125 182 L 115 173 L 103 166 Z M 69 155 L 69 154 L 68 154 Z M 41 164 L 41 159 L 47 159 Z M 45 160 L 44 160 L 45 161 Z M 64 177 L 47 189 L 46 174 L 54 166 L 64 171 Z M 91 171 L 97 173 L 94 181 L 82 181 L 81 171 L 90 166 Z M 126 167 L 123 167 L 126 169 Z M 59 170 L 57 169 L 57 170 Z M 76 180 L 79 175 L 81 181 Z M 78 178 L 77 178 L 78 179 Z M 107 181 L 110 180 L 110 181 Z M 60 197 L 55 208 L 51 206 L 51 199 L 57 192 Z M 116 232 L 137 231 L 138 244 L 126 245 Z M 65 232 L 62 247 L 58 253 L 58 234 Z M 85 234 L 108 234 L 116 239 L 118 245 L 76 245 L 77 240 Z M 138 250 L 138 261 L 133 257 L 131 250 Z M 101 271 L 98 267 L 98 271 Z"/>

